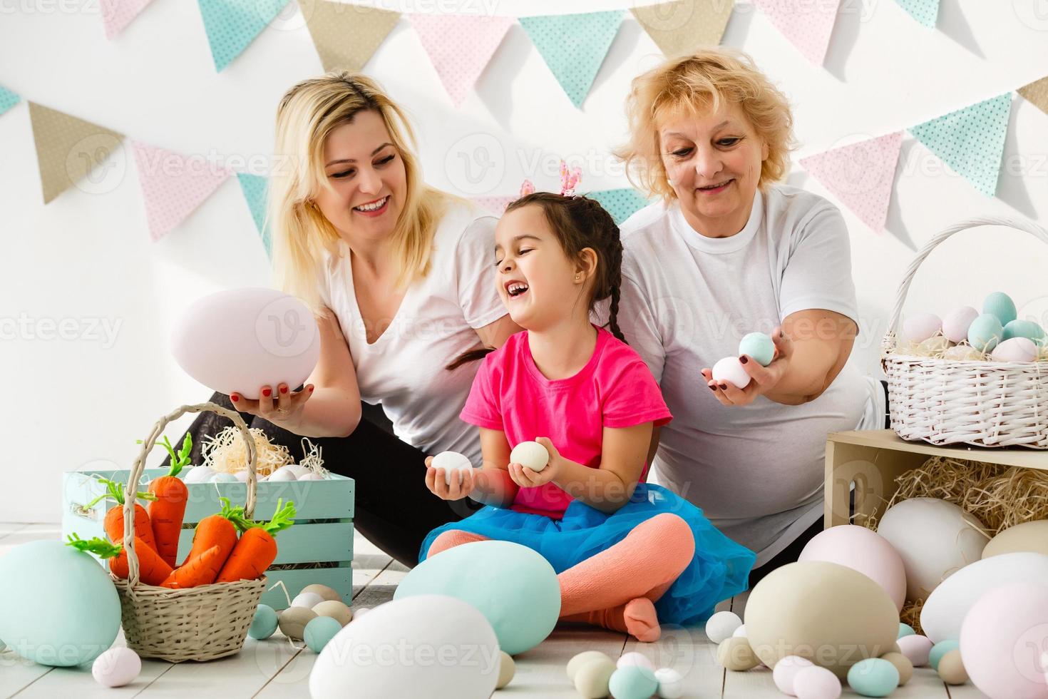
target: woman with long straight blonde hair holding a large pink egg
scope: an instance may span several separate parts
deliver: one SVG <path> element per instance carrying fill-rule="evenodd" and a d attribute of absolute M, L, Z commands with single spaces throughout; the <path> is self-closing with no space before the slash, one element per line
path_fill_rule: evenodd
<path fill-rule="evenodd" d="M 325 466 L 356 480 L 356 528 L 408 566 L 430 530 L 480 506 L 433 498 L 425 457 L 451 450 L 480 465 L 477 431 L 458 417 L 479 367 L 468 359 L 519 330 L 495 286 L 496 219 L 427 185 L 413 143 L 403 110 L 365 75 L 328 73 L 283 96 L 268 191 L 274 271 L 314 309 L 320 361 L 301 389 L 212 398 L 296 460 L 302 436 L 320 438 Z M 392 434 L 381 414 L 362 420 L 362 399 L 381 406 Z M 198 418 L 197 449 L 227 423 Z"/>

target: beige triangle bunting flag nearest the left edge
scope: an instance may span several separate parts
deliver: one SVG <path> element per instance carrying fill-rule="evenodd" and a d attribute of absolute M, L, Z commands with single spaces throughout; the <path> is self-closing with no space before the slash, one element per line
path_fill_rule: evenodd
<path fill-rule="evenodd" d="M 83 179 L 124 140 L 123 133 L 34 102 L 29 122 L 45 204 Z"/>

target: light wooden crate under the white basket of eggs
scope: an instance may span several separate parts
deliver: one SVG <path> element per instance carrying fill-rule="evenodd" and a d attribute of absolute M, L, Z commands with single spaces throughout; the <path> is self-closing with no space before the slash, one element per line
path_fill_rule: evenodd
<path fill-rule="evenodd" d="M 826 508 L 824 528 L 848 524 L 854 514 L 883 515 L 897 489 L 895 479 L 920 466 L 931 456 L 982 461 L 1003 466 L 1048 469 L 1048 454 L 1026 449 L 936 446 L 905 441 L 892 430 L 836 432 L 826 442 Z M 855 484 L 855 507 L 849 490 Z"/>

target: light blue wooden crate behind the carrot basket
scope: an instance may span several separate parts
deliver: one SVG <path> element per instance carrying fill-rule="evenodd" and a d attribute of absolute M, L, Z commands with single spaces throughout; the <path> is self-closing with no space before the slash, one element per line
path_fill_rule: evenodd
<path fill-rule="evenodd" d="M 83 539 L 106 538 L 103 521 L 106 514 L 118 507 L 105 499 L 93 507 L 85 505 L 106 492 L 96 477 L 127 483 L 130 471 L 69 471 L 63 475 L 62 536 L 77 532 Z M 150 481 L 167 475 L 166 468 L 147 468 L 138 490 L 145 492 Z M 221 510 L 220 497 L 234 505 L 242 505 L 247 497 L 246 483 L 187 483 L 189 501 L 182 533 L 178 542 L 178 563 L 193 546 L 196 525 L 205 517 Z M 287 597 L 277 582 L 283 582 L 294 598 L 307 585 L 327 585 L 350 604 L 353 596 L 353 495 L 354 482 L 337 474 L 323 481 L 260 482 L 256 490 L 254 520 L 270 520 L 277 511 L 277 501 L 294 502 L 294 526 L 277 534 L 277 560 L 266 571 L 268 590 L 262 603 L 274 609 L 285 609 Z M 148 503 L 139 501 L 143 506 Z M 122 542 L 117 542 L 122 543 Z M 101 561 L 107 567 L 105 561 Z M 318 567 L 321 564 L 323 567 Z"/>

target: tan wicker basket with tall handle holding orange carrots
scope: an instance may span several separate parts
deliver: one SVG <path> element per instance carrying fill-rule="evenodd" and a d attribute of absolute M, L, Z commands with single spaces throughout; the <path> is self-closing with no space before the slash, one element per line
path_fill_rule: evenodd
<path fill-rule="evenodd" d="M 182 406 L 160 418 L 141 445 L 128 477 L 124 502 L 124 548 L 128 553 L 128 578 L 113 577 L 121 597 L 124 636 L 128 648 L 145 658 L 170 662 L 214 660 L 240 652 L 247 629 L 255 618 L 259 599 L 265 591 L 265 576 L 239 583 L 216 583 L 185 590 L 171 590 L 146 585 L 138 578 L 138 556 L 134 550 L 134 505 L 138 480 L 146 465 L 146 455 L 160 437 L 163 428 L 185 413 L 212 411 L 228 417 L 240 429 L 247 445 L 246 517 L 255 510 L 255 440 L 244 420 L 235 411 L 213 402 Z"/>

